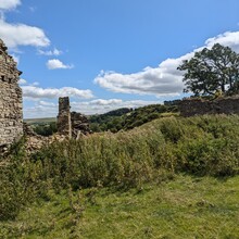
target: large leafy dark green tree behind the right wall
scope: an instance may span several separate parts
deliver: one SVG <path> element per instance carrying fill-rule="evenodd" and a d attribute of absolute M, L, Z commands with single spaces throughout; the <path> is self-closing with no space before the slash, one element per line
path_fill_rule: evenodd
<path fill-rule="evenodd" d="M 239 92 L 239 54 L 229 47 L 215 43 L 212 49 L 204 48 L 190 60 L 183 61 L 177 70 L 185 71 L 184 92 L 196 96 Z"/>

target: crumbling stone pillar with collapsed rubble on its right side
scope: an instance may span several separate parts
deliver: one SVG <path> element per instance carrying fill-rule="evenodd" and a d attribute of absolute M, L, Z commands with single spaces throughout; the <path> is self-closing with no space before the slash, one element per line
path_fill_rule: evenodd
<path fill-rule="evenodd" d="M 91 133 L 88 118 L 80 113 L 71 112 L 68 97 L 59 98 L 58 133 L 70 139 Z"/>

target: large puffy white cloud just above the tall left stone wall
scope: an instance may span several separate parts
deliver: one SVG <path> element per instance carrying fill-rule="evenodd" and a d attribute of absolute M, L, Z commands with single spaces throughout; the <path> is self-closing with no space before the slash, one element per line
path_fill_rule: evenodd
<path fill-rule="evenodd" d="M 25 24 L 10 24 L 0 18 L 0 38 L 9 48 L 18 46 L 47 47 L 50 40 L 41 28 Z"/>

